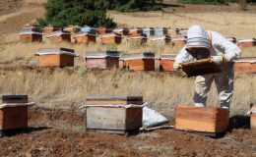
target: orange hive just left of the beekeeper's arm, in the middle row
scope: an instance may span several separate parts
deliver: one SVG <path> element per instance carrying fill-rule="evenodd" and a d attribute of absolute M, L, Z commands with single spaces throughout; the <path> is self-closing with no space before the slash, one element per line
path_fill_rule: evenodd
<path fill-rule="evenodd" d="M 161 54 L 160 55 L 160 71 L 172 72 L 176 54 Z"/>

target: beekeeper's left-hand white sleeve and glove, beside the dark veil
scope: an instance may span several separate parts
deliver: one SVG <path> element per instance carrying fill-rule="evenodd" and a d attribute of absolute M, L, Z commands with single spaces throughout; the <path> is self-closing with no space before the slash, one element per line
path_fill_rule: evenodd
<path fill-rule="evenodd" d="M 175 62 L 173 64 L 174 71 L 180 71 L 181 70 L 181 63 L 183 62 L 189 62 L 193 61 L 194 58 L 192 55 L 190 55 L 186 49 L 185 46 L 180 50 L 179 54 L 177 55 Z"/>

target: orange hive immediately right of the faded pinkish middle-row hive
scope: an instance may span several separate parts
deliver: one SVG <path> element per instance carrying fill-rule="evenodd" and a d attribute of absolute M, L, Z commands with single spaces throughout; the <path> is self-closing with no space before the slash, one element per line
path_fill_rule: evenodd
<path fill-rule="evenodd" d="M 133 71 L 154 71 L 155 53 L 126 53 L 122 55 L 123 68 Z"/>

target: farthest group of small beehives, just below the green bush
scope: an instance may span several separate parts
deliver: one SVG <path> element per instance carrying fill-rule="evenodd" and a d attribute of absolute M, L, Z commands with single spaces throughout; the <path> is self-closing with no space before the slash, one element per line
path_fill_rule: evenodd
<path fill-rule="evenodd" d="M 86 31 L 88 30 L 88 31 Z M 92 29 L 85 29 L 83 32 L 77 32 L 76 28 L 68 27 L 64 30 L 57 30 L 53 26 L 45 27 L 42 30 L 37 26 L 25 27 L 20 32 L 20 41 L 22 42 L 41 42 L 42 35 L 46 34 L 46 37 L 50 40 L 50 42 L 71 42 L 72 36 L 74 38 L 75 43 L 96 43 L 97 35 L 96 33 L 91 33 Z M 171 29 L 171 28 L 159 28 L 158 34 L 148 35 L 145 33 L 146 30 L 142 28 L 132 28 L 128 29 L 125 27 L 115 28 L 113 30 L 99 27 L 98 29 L 94 29 L 94 32 L 98 32 L 101 43 L 103 44 L 120 44 L 123 41 L 123 38 L 126 38 L 126 41 L 137 44 L 144 44 L 150 40 L 152 43 L 157 44 L 171 44 L 171 45 L 185 45 L 186 44 L 186 33 L 185 29 Z M 127 36 L 126 36 L 127 35 Z M 238 39 L 234 37 L 226 37 L 227 40 L 237 43 L 237 45 L 241 47 L 250 47 L 256 46 L 256 39 Z"/>

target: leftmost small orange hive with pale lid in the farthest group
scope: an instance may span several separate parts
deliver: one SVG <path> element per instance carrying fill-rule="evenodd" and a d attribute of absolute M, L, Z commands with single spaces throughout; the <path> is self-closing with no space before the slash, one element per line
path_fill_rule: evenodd
<path fill-rule="evenodd" d="M 39 27 L 25 27 L 20 31 L 21 42 L 41 42 L 42 32 Z"/>

